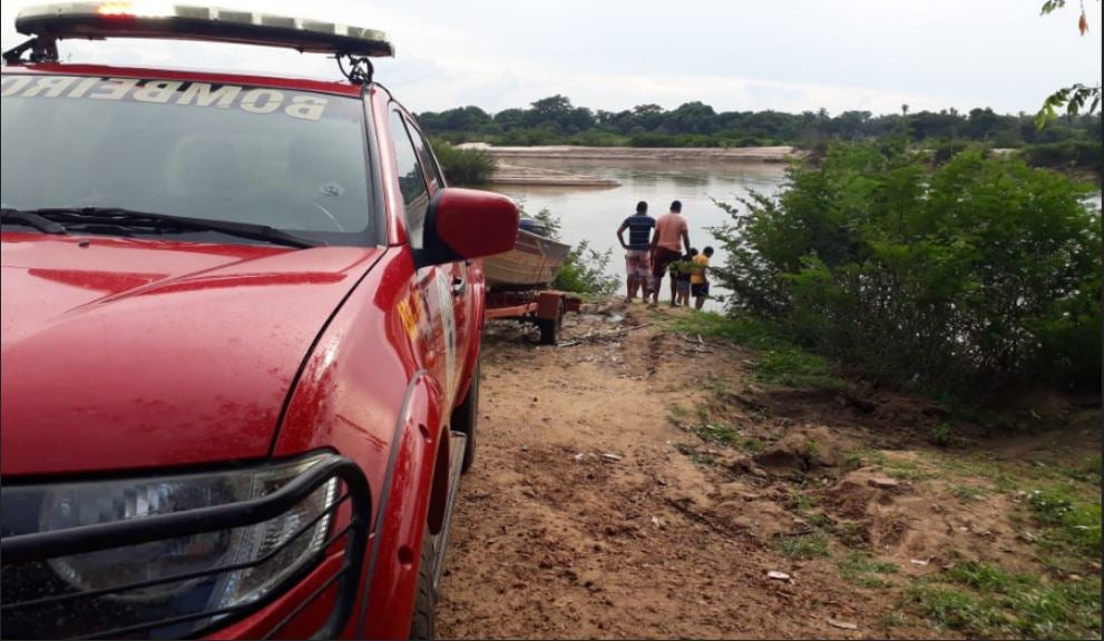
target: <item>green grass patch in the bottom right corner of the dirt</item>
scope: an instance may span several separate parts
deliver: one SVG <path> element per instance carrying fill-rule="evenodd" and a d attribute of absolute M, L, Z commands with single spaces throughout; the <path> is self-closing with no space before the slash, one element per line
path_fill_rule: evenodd
<path fill-rule="evenodd" d="M 1048 581 L 977 561 L 959 561 L 932 581 L 910 586 L 908 611 L 939 628 L 980 637 L 1100 637 L 1100 576 Z"/>

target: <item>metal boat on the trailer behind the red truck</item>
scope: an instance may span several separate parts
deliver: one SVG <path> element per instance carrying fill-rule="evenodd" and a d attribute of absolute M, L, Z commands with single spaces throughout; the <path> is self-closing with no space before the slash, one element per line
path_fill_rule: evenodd
<path fill-rule="evenodd" d="M 551 238 L 538 220 L 522 218 L 514 249 L 483 259 L 487 287 L 531 289 L 551 285 L 570 249 L 570 245 Z"/>

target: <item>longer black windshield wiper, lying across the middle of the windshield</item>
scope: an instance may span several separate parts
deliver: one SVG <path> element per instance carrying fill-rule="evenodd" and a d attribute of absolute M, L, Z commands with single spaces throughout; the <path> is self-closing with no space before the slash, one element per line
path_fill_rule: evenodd
<path fill-rule="evenodd" d="M 321 240 L 304 238 L 290 231 L 284 231 L 283 229 L 268 227 L 267 225 L 212 220 L 209 218 L 189 218 L 187 216 L 173 216 L 172 214 L 136 211 L 123 207 L 42 207 L 40 209 L 19 209 L 14 211 L 17 214 L 36 216 L 45 219 L 47 223 L 55 224 L 59 221 L 69 224 L 96 223 L 131 228 L 148 226 L 159 230 L 176 228 L 218 231 L 228 236 L 237 236 L 238 238 L 264 240 L 275 245 L 287 245 L 299 248 L 325 245 Z M 63 230 L 65 228 L 62 227 Z"/>

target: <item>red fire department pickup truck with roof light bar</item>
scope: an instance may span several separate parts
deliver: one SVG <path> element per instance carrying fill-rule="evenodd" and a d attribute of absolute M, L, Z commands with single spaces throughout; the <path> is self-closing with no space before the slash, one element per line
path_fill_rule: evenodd
<path fill-rule="evenodd" d="M 449 188 L 378 31 L 25 10 L 2 75 L 4 638 L 432 637 L 516 205 Z M 59 62 L 334 56 L 346 81 Z"/>

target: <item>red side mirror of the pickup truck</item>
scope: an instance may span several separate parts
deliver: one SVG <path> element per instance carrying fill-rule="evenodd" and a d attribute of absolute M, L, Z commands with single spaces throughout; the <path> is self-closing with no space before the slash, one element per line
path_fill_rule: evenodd
<path fill-rule="evenodd" d="M 437 193 L 426 211 L 418 266 L 502 254 L 518 237 L 518 206 L 492 191 L 449 187 Z"/>

